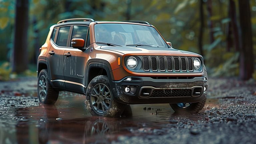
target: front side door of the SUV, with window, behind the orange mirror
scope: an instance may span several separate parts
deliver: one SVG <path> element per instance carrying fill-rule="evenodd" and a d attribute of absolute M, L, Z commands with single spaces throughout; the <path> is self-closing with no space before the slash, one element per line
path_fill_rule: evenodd
<path fill-rule="evenodd" d="M 84 47 L 89 46 L 88 43 L 86 44 L 89 27 L 84 25 L 74 25 L 71 27 L 71 29 L 72 31 L 68 48 L 66 48 L 64 54 L 64 78 L 66 80 L 65 85 L 67 89 L 84 92 L 85 66 L 88 56 L 88 49 L 81 51 L 77 48 L 72 48 L 71 40 L 73 38 L 82 38 L 85 40 Z"/>

